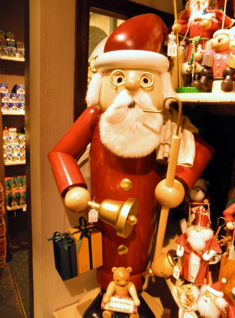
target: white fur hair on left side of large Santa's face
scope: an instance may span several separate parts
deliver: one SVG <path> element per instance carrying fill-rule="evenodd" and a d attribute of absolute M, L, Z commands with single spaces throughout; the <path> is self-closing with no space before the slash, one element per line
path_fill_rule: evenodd
<path fill-rule="evenodd" d="M 100 108 L 99 106 L 99 98 L 100 98 L 100 89 L 102 84 L 102 76 L 103 73 L 95 73 L 90 81 L 86 102 L 89 106 Z"/>

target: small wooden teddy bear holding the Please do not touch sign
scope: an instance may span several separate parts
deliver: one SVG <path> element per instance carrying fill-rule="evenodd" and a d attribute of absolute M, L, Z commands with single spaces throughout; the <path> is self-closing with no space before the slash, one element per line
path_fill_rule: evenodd
<path fill-rule="evenodd" d="M 106 290 L 106 294 L 103 297 L 103 303 L 107 304 L 110 301 L 110 297 L 113 294 L 132 297 L 135 306 L 140 305 L 140 300 L 137 295 L 135 285 L 130 281 L 131 279 L 131 267 L 113 267 L 113 281 L 111 281 Z M 114 312 L 105 309 L 103 311 L 103 318 L 111 318 Z M 139 318 L 139 314 L 129 314 L 130 318 Z"/>

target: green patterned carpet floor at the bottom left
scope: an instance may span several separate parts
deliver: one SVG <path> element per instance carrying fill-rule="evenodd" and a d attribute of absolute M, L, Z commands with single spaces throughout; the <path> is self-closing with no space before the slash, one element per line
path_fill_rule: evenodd
<path fill-rule="evenodd" d="M 17 283 L 25 315 L 30 318 L 28 250 L 12 253 L 11 268 Z"/>

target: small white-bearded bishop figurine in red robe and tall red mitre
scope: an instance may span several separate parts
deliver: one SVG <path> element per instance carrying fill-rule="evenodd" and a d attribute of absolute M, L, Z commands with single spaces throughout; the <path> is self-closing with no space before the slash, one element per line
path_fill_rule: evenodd
<path fill-rule="evenodd" d="M 216 239 L 209 251 L 214 234 L 212 229 L 208 227 L 208 222 L 209 213 L 201 205 L 195 213 L 195 224 L 189 226 L 186 232 L 176 240 L 178 244 L 177 256 L 182 257 L 184 255 L 182 266 L 184 279 L 194 283 L 197 278 L 195 282 L 197 286 L 203 285 L 204 278 L 208 283 L 208 261 L 216 253 L 222 252 Z M 202 264 L 203 266 L 201 266 Z"/>

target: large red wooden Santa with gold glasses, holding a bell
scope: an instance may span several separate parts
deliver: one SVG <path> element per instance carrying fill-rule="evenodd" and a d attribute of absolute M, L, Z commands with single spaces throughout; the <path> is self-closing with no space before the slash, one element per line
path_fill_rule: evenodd
<path fill-rule="evenodd" d="M 164 116 L 143 110 L 160 110 L 163 98 L 173 93 L 169 62 L 160 54 L 167 37 L 166 25 L 153 14 L 133 17 L 117 27 L 95 61 L 98 72 L 87 94 L 90 107 L 48 154 L 69 210 L 82 212 L 94 198 L 102 205 L 102 217 L 95 223 L 102 232 L 103 266 L 97 270 L 102 290 L 113 280 L 113 267 L 132 267 L 137 291 L 144 284 L 157 216 L 154 191 L 165 165 L 156 161 Z M 197 134 L 191 137 L 193 167 L 178 166 L 175 177 L 186 194 L 213 156 L 213 149 Z M 76 162 L 89 143 L 91 194 Z M 155 265 L 164 275 L 164 268 Z M 102 317 L 101 296 L 97 297 L 84 317 Z M 141 317 L 154 317 L 141 297 L 138 311 Z"/>

